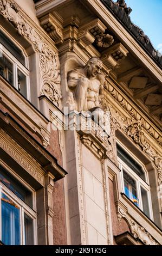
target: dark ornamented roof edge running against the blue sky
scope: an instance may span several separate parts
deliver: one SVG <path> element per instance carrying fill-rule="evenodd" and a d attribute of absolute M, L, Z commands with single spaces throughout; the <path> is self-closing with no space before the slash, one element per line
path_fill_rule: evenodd
<path fill-rule="evenodd" d="M 124 0 L 118 0 L 114 3 L 112 0 L 101 0 L 101 2 L 110 10 L 124 25 L 129 33 L 133 35 L 135 40 L 139 42 L 140 45 L 145 49 L 145 51 L 151 55 L 154 61 L 162 68 L 162 56 L 156 51 L 148 38 L 147 35 L 142 31 L 141 28 L 135 26 L 129 14 L 131 13 L 131 8 L 126 7 L 126 3 Z"/>

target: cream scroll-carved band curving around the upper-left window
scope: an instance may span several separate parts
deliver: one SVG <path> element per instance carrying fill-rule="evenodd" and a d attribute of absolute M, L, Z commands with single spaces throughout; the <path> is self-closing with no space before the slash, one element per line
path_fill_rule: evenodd
<path fill-rule="evenodd" d="M 0 14 L 14 25 L 20 35 L 27 37 L 35 45 L 40 60 L 40 93 L 46 95 L 56 106 L 61 107 L 58 54 L 51 50 L 35 29 L 23 19 L 15 3 L 0 0 Z"/>

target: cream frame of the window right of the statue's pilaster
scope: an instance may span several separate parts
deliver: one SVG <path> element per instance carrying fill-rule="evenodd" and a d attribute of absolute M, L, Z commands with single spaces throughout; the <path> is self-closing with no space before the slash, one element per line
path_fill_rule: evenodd
<path fill-rule="evenodd" d="M 153 221 L 153 210 L 152 210 L 152 201 L 151 201 L 151 187 L 149 184 L 149 179 L 148 179 L 148 172 L 145 169 L 145 165 L 141 163 L 141 161 L 139 161 L 137 159 L 137 157 L 135 157 L 131 151 L 129 151 L 128 149 L 126 149 L 123 145 L 121 145 L 121 143 L 118 142 L 118 144 L 120 145 L 120 147 L 122 149 L 124 149 L 125 151 L 127 151 L 127 154 L 134 160 L 136 161 L 142 168 L 144 174 L 145 174 L 145 178 L 146 181 L 143 180 L 142 178 L 140 178 L 140 176 L 134 172 L 134 170 L 132 170 L 129 166 L 127 166 L 127 164 L 120 159 L 120 157 L 118 156 L 118 163 L 119 163 L 119 169 L 121 170 L 121 175 L 120 175 L 120 179 L 121 179 L 121 188 L 122 188 L 122 193 L 125 194 L 125 185 L 124 185 L 124 173 L 123 171 L 125 170 L 125 172 L 131 176 L 131 178 L 135 181 L 136 184 L 136 188 L 137 188 L 137 197 L 139 199 L 139 206 L 137 206 L 142 212 L 144 212 L 144 207 L 142 205 L 142 196 L 141 196 L 141 187 L 147 192 L 147 200 L 148 200 L 148 211 L 149 211 L 149 215 L 147 216 L 148 218 L 150 218 Z M 124 169 L 124 170 L 123 170 Z M 129 198 L 131 200 L 131 198 Z M 132 200 L 131 200 L 132 201 Z M 133 201 L 132 201 L 133 203 Z M 134 204 L 134 203 L 133 203 Z M 135 205 L 135 204 L 134 204 Z M 145 212 L 144 212 L 145 214 Z M 146 214 L 145 214 L 146 215 Z"/>

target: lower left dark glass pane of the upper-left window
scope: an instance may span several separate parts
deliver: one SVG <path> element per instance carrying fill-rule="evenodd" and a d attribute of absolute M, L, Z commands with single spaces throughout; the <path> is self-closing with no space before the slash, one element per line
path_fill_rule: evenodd
<path fill-rule="evenodd" d="M 0 54 L 0 74 L 7 79 L 12 85 L 13 80 L 13 64 L 10 60 L 2 54 Z"/>

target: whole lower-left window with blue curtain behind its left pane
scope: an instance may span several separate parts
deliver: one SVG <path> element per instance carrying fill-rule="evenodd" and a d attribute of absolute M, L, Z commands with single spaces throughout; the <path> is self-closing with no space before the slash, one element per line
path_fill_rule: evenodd
<path fill-rule="evenodd" d="M 0 166 L 0 240 L 5 245 L 34 245 L 33 192 Z"/>

